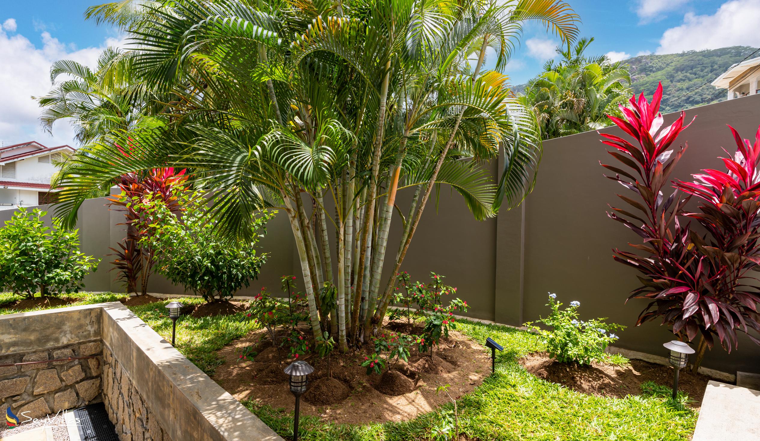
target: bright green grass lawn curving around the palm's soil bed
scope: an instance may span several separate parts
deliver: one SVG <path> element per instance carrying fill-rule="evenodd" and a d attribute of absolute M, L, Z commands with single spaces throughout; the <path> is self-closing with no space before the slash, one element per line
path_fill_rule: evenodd
<path fill-rule="evenodd" d="M 78 304 L 116 299 L 115 294 L 81 294 Z M 0 294 L 0 308 L 5 300 Z M 196 298 L 183 303 L 201 303 Z M 165 304 L 162 302 L 161 305 Z M 130 309 L 164 338 L 171 338 L 171 321 L 165 309 L 154 305 Z M 242 314 L 242 313 L 241 313 Z M 254 328 L 237 316 L 197 319 L 184 316 L 177 322 L 177 349 L 207 373 L 220 361 L 215 351 Z M 676 440 L 690 439 L 697 414 L 682 410 L 662 394 L 648 397 L 600 398 L 566 389 L 527 373 L 518 359 L 543 349 L 536 335 L 500 325 L 486 325 L 461 320 L 458 328 L 483 343 L 494 338 L 505 347 L 497 353 L 497 369 L 472 394 L 458 401 L 461 432 L 470 438 L 485 440 Z M 292 414 L 282 409 L 258 406 L 252 401 L 243 405 L 282 436 L 290 437 Z M 318 417 L 302 417 L 299 439 L 391 441 L 432 439 L 435 427 L 451 416 L 448 405 L 404 423 L 366 424 L 361 426 L 332 424 Z"/>

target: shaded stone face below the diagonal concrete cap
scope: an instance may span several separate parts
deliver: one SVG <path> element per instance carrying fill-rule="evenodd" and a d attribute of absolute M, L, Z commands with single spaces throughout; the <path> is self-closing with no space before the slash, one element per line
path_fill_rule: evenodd
<path fill-rule="evenodd" d="M 122 441 L 172 441 L 108 347 L 103 349 L 103 403 Z"/>

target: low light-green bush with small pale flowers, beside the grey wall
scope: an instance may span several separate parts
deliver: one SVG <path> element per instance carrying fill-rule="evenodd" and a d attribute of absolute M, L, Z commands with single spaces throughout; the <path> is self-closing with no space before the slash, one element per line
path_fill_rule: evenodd
<path fill-rule="evenodd" d="M 549 293 L 549 303 L 546 303 L 552 309 L 549 316 L 527 322 L 525 326 L 543 337 L 549 355 L 559 362 L 591 364 L 592 361 L 606 360 L 604 350 L 618 339 L 613 332 L 621 331 L 625 326 L 606 323 L 606 319 L 581 320 L 578 316 L 580 302 L 573 300 L 569 306 L 562 308 L 556 297 L 556 294 Z M 538 323 L 548 329 L 540 328 Z"/>

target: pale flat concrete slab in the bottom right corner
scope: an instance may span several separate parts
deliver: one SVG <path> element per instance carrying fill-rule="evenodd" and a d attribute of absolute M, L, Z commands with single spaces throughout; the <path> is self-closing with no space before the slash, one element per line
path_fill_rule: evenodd
<path fill-rule="evenodd" d="M 760 392 L 708 382 L 692 441 L 760 439 Z"/>

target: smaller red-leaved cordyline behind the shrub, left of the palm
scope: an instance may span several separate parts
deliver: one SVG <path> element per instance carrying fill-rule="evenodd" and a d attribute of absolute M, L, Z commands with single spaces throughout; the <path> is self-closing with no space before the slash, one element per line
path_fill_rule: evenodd
<path fill-rule="evenodd" d="M 165 167 L 150 170 L 144 176 L 137 173 L 122 175 L 116 184 L 122 190 L 122 194 L 109 198 L 112 206 L 120 207 L 118 211 L 124 211 L 126 220 L 119 225 L 127 226 L 127 236 L 120 249 L 114 249 L 112 255 L 116 259 L 112 262 L 113 270 L 119 272 L 120 280 L 125 283 L 128 293 L 136 292 L 138 280 L 140 281 L 141 293 L 147 293 L 147 282 L 156 263 L 156 255 L 150 247 L 141 246 L 140 240 L 150 229 L 150 212 L 144 210 L 142 202 L 146 198 L 159 198 L 173 213 L 179 213 L 181 207 L 177 201 L 175 192 L 180 189 L 187 180 L 185 170 L 174 173 L 173 167 Z"/>

